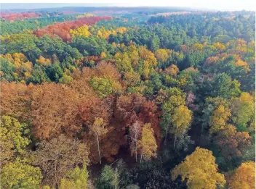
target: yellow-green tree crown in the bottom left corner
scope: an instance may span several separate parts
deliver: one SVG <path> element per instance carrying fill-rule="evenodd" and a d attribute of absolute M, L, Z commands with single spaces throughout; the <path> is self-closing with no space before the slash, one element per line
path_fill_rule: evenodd
<path fill-rule="evenodd" d="M 1 169 L 0 183 L 2 188 L 39 189 L 41 179 L 42 175 L 39 167 L 31 166 L 25 159 L 17 158 Z"/>

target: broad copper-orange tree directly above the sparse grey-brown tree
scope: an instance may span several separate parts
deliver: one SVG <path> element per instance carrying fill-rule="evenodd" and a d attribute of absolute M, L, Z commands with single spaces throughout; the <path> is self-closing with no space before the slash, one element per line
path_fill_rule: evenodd
<path fill-rule="evenodd" d="M 68 86 L 44 83 L 32 91 L 33 133 L 45 139 L 60 135 L 62 130 L 69 134 L 81 128 L 77 119 L 79 94 Z M 60 100 L 61 99 L 61 100 Z"/>

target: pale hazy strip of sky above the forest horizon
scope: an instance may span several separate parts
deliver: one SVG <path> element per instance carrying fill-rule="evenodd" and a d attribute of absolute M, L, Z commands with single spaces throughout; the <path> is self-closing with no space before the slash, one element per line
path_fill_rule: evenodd
<path fill-rule="evenodd" d="M 49 0 L 36 1 L 39 3 L 31 3 L 31 1 L 25 1 L 28 3 L 14 3 L 14 0 L 2 0 L 1 9 L 38 9 L 38 8 L 52 8 L 52 7 L 186 7 L 193 9 L 208 9 L 208 10 L 255 10 L 255 2 L 252 0 L 58 0 L 55 2 L 59 3 L 48 3 L 52 2 Z M 9 3 L 11 2 L 11 3 Z M 32 1 L 34 2 L 34 1 Z M 45 3 L 41 3 L 45 2 Z M 72 3 L 71 3 L 72 2 Z M 83 3 L 81 3 L 83 2 Z M 121 2 L 121 3 L 120 3 Z"/>

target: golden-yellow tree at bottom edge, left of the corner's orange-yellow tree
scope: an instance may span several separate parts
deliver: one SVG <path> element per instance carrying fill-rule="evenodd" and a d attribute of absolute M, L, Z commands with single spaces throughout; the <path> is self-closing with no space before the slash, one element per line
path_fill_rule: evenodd
<path fill-rule="evenodd" d="M 182 175 L 182 180 L 187 180 L 189 189 L 215 189 L 217 186 L 224 187 L 225 178 L 217 172 L 215 156 L 212 151 L 197 147 L 185 161 L 172 169 L 172 180 Z"/>

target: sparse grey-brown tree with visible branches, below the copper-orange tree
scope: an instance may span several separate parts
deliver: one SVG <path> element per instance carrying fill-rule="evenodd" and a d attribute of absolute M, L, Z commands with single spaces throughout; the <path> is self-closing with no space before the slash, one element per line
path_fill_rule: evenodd
<path fill-rule="evenodd" d="M 38 149 L 33 152 L 33 164 L 41 167 L 43 183 L 55 187 L 74 166 L 88 164 L 88 155 L 87 144 L 60 135 L 49 142 L 43 140 L 39 143 Z"/>

